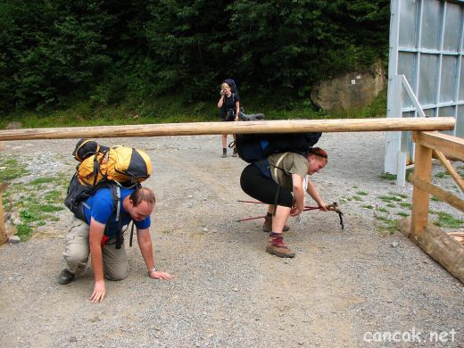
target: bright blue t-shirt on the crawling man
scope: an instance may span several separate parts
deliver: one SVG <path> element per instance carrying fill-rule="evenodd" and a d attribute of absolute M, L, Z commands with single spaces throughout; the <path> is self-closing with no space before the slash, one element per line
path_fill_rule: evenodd
<path fill-rule="evenodd" d="M 90 225 L 91 218 L 94 218 L 94 220 L 106 225 L 104 231 L 106 236 L 116 235 L 118 233 L 119 226 L 122 228 L 123 226 L 128 225 L 128 223 L 132 220 L 129 213 L 124 210 L 122 201 L 124 201 L 124 198 L 128 195 L 132 194 L 134 190 L 135 188 L 120 187 L 120 223 L 116 221 L 116 212 L 113 213 L 113 206 L 116 202 L 112 199 L 111 189 L 104 187 L 96 191 L 95 195 L 90 196 L 86 201 L 89 208 L 84 208 L 87 223 Z M 150 227 L 151 220 L 150 217 L 147 216 L 144 220 L 134 221 L 134 223 L 138 229 L 144 229 Z"/>

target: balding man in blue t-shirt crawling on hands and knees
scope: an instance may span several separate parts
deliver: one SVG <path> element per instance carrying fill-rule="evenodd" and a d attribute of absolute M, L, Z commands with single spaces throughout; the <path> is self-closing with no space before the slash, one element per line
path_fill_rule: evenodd
<path fill-rule="evenodd" d="M 58 277 L 58 283 L 69 284 L 75 276 L 86 269 L 88 256 L 92 254 L 95 286 L 90 300 L 104 300 L 106 287 L 104 277 L 121 280 L 128 277 L 128 256 L 124 244 L 116 247 L 120 228 L 133 220 L 137 228 L 137 243 L 144 258 L 148 276 L 154 279 L 170 279 L 170 274 L 154 267 L 150 215 L 155 198 L 146 188 L 120 188 L 120 222 L 116 220 L 114 200 L 108 187 L 98 190 L 84 204 L 87 221 L 74 219 L 66 235 L 63 253 L 66 268 Z"/>

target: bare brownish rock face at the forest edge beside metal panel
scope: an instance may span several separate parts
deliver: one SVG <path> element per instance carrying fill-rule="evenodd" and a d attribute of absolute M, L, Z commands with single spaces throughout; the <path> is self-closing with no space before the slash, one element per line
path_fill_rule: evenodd
<path fill-rule="evenodd" d="M 359 109 L 372 103 L 385 86 L 385 69 L 378 62 L 368 71 L 320 81 L 311 88 L 311 100 L 326 112 Z"/>

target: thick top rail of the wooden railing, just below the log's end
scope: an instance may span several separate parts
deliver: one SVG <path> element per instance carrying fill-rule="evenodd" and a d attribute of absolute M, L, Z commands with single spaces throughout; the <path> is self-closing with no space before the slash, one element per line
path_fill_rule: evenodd
<path fill-rule="evenodd" d="M 446 157 L 464 160 L 464 139 L 439 132 L 414 132 L 412 141 L 441 151 Z"/>

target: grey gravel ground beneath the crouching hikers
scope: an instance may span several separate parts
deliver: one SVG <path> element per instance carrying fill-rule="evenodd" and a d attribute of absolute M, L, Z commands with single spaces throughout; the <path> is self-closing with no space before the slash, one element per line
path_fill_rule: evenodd
<path fill-rule="evenodd" d="M 236 222 L 263 215 L 265 207 L 237 202 L 249 199 L 238 182 L 245 163 L 220 158 L 220 136 L 102 143 L 136 145 L 151 156 L 154 175 L 145 186 L 157 195 L 153 250 L 157 267 L 174 278 L 148 278 L 135 244 L 128 248 L 128 278 L 106 282 L 104 302 L 88 301 L 92 269 L 59 286 L 70 220 L 63 211 L 28 242 L 0 247 L 0 346 L 464 346 L 464 286 L 375 218 L 409 212 L 379 197 L 410 203 L 412 192 L 379 178 L 384 133 L 320 139 L 329 164 L 313 180 L 327 203 L 340 204 L 345 228 L 333 212 L 291 220 L 286 242 L 296 252 L 293 260 L 264 252 L 262 220 Z M 22 180 L 30 180 L 71 173 L 74 144 L 10 142 L 0 154 L 28 164 L 31 175 Z M 439 184 L 451 187 L 446 179 Z M 432 202 L 431 210 L 462 219 L 443 203 Z"/>

